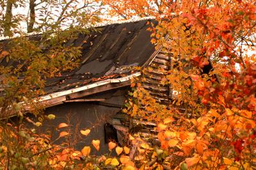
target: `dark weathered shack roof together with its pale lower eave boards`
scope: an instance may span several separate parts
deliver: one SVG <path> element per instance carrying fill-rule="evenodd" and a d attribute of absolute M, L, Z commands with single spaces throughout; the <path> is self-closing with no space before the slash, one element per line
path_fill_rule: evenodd
<path fill-rule="evenodd" d="M 50 107 L 108 89 L 129 86 L 132 77 L 140 76 L 133 66 L 145 66 L 156 56 L 150 42 L 148 22 L 152 19 L 108 24 L 89 35 L 80 33 L 68 45 L 81 47 L 81 65 L 72 72 L 47 80 L 46 95 L 39 102 Z M 156 23 L 155 23 L 156 24 Z M 4 45 L 8 40 L 2 41 Z M 66 44 L 66 45 L 67 45 Z M 6 65 L 5 60 L 0 65 Z"/>

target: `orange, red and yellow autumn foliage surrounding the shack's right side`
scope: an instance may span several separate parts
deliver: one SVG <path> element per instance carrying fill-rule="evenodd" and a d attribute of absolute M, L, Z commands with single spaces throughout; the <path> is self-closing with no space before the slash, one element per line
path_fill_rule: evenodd
<path fill-rule="evenodd" d="M 94 148 L 84 146 L 81 151 L 59 148 L 54 157 L 45 158 L 47 164 L 125 170 L 255 169 L 255 1 L 97 2 L 108 6 L 109 15 L 124 19 L 156 18 L 157 26 L 150 29 L 152 43 L 163 46 L 166 55 L 172 56 L 170 70 L 160 83 L 169 84 L 175 93 L 170 104 L 162 105 L 143 89 L 141 79 L 134 80 L 124 112 L 132 118 L 156 123 L 155 135 L 145 138 L 129 134 L 127 146 L 109 143 L 109 153 L 116 153 L 116 157 L 90 155 L 92 149 L 100 150 L 97 139 L 92 141 Z M 212 68 L 205 70 L 209 65 Z M 61 127 L 68 125 L 63 123 Z M 90 135 L 89 129 L 80 132 L 84 137 Z M 29 137 L 16 136 L 14 144 L 22 143 L 22 137 L 31 144 L 33 133 L 29 133 Z M 68 135 L 65 131 L 60 133 L 60 137 Z M 42 155 L 36 147 L 26 161 L 40 159 Z M 8 153 L 6 148 L 2 150 Z M 8 154 L 3 157 L 9 157 Z M 28 162 L 24 167 L 31 167 Z"/>

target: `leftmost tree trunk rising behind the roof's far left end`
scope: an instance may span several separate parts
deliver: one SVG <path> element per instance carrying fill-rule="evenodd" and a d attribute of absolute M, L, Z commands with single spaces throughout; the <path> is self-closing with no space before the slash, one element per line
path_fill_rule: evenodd
<path fill-rule="evenodd" d="M 12 24 L 12 6 L 13 1 L 8 0 L 6 4 L 6 13 L 4 16 L 4 36 L 11 35 L 11 24 Z"/>

